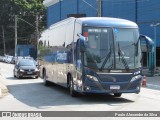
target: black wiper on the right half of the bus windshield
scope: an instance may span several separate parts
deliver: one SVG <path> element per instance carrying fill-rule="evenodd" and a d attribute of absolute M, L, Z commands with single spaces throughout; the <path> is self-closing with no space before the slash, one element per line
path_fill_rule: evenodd
<path fill-rule="evenodd" d="M 126 69 L 126 70 L 129 70 L 129 66 L 128 66 L 128 64 L 127 64 L 126 59 L 124 58 L 124 55 L 123 55 L 123 53 L 122 53 L 122 50 L 120 49 L 119 43 L 118 43 L 118 56 L 119 56 L 119 61 L 120 61 L 120 58 L 121 58 L 122 63 L 123 63 L 123 65 L 124 65 L 125 69 Z M 121 57 L 120 57 L 120 56 L 121 56 Z"/>

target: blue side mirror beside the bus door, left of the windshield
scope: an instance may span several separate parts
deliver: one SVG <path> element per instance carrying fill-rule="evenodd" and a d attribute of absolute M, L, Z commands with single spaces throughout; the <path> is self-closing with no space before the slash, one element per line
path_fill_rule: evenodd
<path fill-rule="evenodd" d="M 79 46 L 80 46 L 80 51 L 84 52 L 86 49 L 86 37 L 82 36 L 81 34 L 77 34 L 79 36 Z"/>

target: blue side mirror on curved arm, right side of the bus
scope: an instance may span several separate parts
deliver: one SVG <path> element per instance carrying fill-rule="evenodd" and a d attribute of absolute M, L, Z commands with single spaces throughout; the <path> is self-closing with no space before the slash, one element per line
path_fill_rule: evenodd
<path fill-rule="evenodd" d="M 152 39 L 145 35 L 140 35 L 139 39 L 141 43 L 142 52 L 152 52 L 152 48 L 154 44 Z"/>

